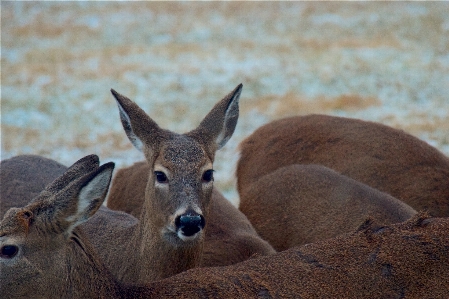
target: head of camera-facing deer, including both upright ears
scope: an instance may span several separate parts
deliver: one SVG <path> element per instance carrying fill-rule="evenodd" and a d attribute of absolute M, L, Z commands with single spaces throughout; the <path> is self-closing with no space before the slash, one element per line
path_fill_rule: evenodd
<path fill-rule="evenodd" d="M 240 84 L 196 129 L 182 135 L 161 129 L 138 105 L 112 90 L 126 135 L 150 165 L 146 218 L 152 231 L 172 244 L 193 244 L 203 239 L 215 151 L 234 132 L 241 89 Z"/>

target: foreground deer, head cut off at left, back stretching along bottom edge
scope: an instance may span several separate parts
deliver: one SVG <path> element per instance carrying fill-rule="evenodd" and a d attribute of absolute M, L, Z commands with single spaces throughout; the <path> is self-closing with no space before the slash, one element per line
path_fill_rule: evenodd
<path fill-rule="evenodd" d="M 366 219 L 351 233 L 144 284 L 117 281 L 83 231 L 114 164 L 75 163 L 0 222 L 2 298 L 444 298 L 449 219 Z"/>

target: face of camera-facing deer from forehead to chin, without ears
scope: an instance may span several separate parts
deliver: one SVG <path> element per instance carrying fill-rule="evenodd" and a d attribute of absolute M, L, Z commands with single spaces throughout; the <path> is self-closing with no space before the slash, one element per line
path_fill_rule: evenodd
<path fill-rule="evenodd" d="M 149 174 L 146 197 L 159 219 L 158 227 L 171 241 L 203 238 L 213 188 L 212 160 L 204 146 L 185 135 L 164 143 Z"/>

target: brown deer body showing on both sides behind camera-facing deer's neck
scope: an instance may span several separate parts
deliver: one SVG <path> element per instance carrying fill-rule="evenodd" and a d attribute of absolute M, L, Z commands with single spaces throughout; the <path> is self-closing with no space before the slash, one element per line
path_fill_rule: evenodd
<path fill-rule="evenodd" d="M 107 206 L 139 217 L 144 203 L 146 162 L 138 162 L 117 171 L 108 195 Z M 261 239 L 246 216 L 223 195 L 213 189 L 206 223 L 206 235 L 201 266 L 226 266 L 249 259 L 254 255 L 267 255 L 275 251 Z"/>

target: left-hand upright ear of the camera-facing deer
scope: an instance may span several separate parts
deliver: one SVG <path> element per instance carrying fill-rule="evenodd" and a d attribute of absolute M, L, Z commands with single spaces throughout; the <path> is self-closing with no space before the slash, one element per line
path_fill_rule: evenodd
<path fill-rule="evenodd" d="M 144 152 L 144 147 L 152 146 L 160 132 L 159 126 L 140 107 L 111 89 L 120 112 L 120 120 L 128 139 L 139 151 Z"/>

